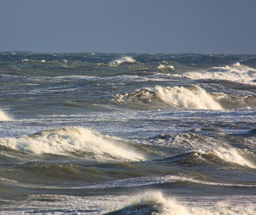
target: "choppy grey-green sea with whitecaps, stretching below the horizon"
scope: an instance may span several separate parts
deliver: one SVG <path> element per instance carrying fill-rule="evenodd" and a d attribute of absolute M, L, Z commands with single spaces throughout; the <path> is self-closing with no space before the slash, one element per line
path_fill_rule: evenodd
<path fill-rule="evenodd" d="M 0 214 L 256 214 L 256 55 L 0 52 Z"/>

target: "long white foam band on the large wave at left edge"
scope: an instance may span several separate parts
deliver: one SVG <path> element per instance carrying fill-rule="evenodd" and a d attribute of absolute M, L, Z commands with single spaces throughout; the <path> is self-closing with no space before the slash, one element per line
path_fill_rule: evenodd
<path fill-rule="evenodd" d="M 129 160 L 144 160 L 144 156 L 114 139 L 82 127 L 67 127 L 24 135 L 19 138 L 1 138 L 6 147 L 36 154 L 66 154 L 66 152 L 92 152 Z"/>

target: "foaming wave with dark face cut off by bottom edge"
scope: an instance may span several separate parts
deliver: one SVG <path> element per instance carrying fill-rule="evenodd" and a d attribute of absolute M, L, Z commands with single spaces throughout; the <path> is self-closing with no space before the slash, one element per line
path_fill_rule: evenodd
<path fill-rule="evenodd" d="M 208 197 L 209 198 L 209 197 Z M 135 194 L 127 199 L 128 205 L 122 209 L 105 213 L 104 215 L 220 215 L 220 214 L 254 214 L 255 206 L 252 204 L 238 205 L 232 204 L 228 200 L 221 202 L 212 202 L 212 206 L 184 205 L 184 202 L 179 202 L 175 198 L 165 196 L 159 190 L 146 190 Z"/>

